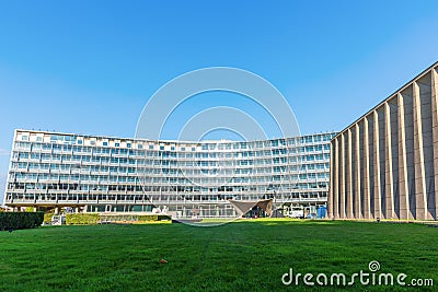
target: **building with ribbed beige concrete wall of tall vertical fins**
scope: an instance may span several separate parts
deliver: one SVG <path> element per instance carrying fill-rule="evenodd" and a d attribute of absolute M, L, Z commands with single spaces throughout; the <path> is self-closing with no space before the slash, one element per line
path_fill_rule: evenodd
<path fill-rule="evenodd" d="M 438 62 L 331 141 L 328 217 L 437 220 Z"/>

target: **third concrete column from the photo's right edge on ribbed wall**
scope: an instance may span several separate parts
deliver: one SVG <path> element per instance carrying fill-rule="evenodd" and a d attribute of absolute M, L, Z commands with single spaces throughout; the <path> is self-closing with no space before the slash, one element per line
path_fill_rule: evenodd
<path fill-rule="evenodd" d="M 400 219 L 410 219 L 410 188 L 407 185 L 406 131 L 404 125 L 403 95 L 397 93 L 399 107 L 399 191 Z"/>

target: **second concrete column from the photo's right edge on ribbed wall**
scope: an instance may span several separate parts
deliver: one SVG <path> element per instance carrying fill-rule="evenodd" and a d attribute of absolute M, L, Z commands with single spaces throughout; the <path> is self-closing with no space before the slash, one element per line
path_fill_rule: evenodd
<path fill-rule="evenodd" d="M 415 162 L 415 202 L 417 220 L 427 218 L 426 172 L 424 165 L 422 103 L 419 87 L 413 83 L 413 114 L 414 114 L 414 162 Z"/>

